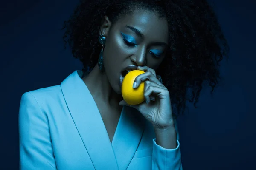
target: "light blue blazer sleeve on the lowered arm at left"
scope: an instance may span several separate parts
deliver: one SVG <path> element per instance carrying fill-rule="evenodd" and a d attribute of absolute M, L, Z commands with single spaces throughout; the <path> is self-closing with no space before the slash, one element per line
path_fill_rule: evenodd
<path fill-rule="evenodd" d="M 23 94 L 19 111 L 20 170 L 56 170 L 47 116 L 35 97 Z"/>

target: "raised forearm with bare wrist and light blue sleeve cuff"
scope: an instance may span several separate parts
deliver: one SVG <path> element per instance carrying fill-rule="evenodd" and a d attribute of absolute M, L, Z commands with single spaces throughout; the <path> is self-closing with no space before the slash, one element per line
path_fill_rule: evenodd
<path fill-rule="evenodd" d="M 175 121 L 175 129 L 155 130 L 155 133 L 152 170 L 182 170 L 177 122 Z"/>

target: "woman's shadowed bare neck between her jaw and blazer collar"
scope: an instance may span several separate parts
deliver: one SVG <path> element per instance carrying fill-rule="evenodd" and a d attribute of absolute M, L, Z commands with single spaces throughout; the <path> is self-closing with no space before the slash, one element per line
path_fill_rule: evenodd
<path fill-rule="evenodd" d="M 111 107 L 118 107 L 122 100 L 122 95 L 113 91 L 108 77 L 104 71 L 100 71 L 98 65 L 85 77 L 82 78 L 93 98 L 97 101 L 105 102 Z"/>

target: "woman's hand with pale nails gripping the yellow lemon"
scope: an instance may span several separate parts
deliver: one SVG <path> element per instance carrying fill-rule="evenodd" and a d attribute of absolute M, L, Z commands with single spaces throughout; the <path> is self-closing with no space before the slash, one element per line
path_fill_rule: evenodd
<path fill-rule="evenodd" d="M 134 88 L 139 87 L 141 82 L 145 82 L 145 102 L 139 105 L 128 105 L 122 100 L 119 105 L 127 105 L 136 108 L 152 123 L 155 129 L 164 129 L 174 126 L 172 105 L 168 89 L 157 79 L 156 72 L 153 69 L 147 66 L 138 67 L 137 69 L 145 71 L 145 73 L 136 77 Z"/>

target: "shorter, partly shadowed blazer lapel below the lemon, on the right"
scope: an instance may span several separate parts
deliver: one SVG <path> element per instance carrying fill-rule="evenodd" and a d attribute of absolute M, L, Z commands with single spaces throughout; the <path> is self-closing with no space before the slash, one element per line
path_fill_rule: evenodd
<path fill-rule="evenodd" d="M 145 128 L 145 118 L 134 108 L 124 106 L 112 147 L 120 170 L 126 170 L 137 150 Z"/>

